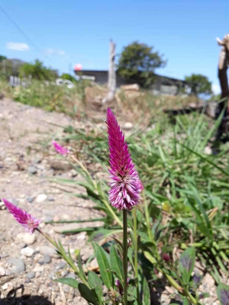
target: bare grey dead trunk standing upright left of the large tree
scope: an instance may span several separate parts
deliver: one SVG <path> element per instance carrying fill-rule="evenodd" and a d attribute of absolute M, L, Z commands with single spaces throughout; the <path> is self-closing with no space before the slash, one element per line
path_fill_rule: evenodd
<path fill-rule="evenodd" d="M 108 94 L 102 103 L 112 102 L 115 99 L 116 72 L 115 72 L 115 43 L 110 41 L 110 64 L 108 71 Z"/>

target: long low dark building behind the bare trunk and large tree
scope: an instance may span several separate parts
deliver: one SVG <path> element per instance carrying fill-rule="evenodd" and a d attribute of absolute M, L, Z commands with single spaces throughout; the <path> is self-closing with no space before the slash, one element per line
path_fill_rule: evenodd
<path fill-rule="evenodd" d="M 80 70 L 75 71 L 76 75 L 81 75 L 83 79 L 95 81 L 98 84 L 105 85 L 108 81 L 108 71 L 106 70 Z M 120 87 L 124 84 L 134 83 L 135 81 L 125 80 L 121 76 L 116 76 L 116 86 Z M 183 90 L 182 90 L 183 89 Z M 169 94 L 177 95 L 179 92 L 190 93 L 191 88 L 186 81 L 176 78 L 155 74 L 155 81 L 151 85 L 150 90 L 153 94 Z"/>

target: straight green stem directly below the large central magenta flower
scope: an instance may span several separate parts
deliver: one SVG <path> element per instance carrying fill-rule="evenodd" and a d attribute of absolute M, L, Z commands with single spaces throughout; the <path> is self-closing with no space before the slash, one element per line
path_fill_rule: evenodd
<path fill-rule="evenodd" d="M 124 305 L 127 305 L 127 210 L 123 210 L 123 296 Z"/>

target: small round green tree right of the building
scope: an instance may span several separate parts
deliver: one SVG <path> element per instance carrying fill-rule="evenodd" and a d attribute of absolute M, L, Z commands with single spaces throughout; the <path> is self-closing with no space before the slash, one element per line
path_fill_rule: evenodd
<path fill-rule="evenodd" d="M 210 95 L 212 91 L 212 83 L 209 81 L 208 77 L 202 74 L 191 74 L 191 76 L 186 76 L 185 81 L 191 87 L 191 94 L 195 95 Z"/>

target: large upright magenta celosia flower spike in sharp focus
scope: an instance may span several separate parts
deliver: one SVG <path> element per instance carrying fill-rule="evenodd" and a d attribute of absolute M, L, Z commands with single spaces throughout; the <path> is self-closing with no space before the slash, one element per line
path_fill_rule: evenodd
<path fill-rule="evenodd" d="M 110 108 L 107 108 L 106 123 L 111 166 L 109 200 L 119 210 L 131 210 L 139 202 L 142 183 L 134 168 L 122 130 Z"/>

